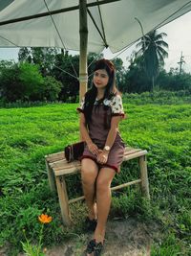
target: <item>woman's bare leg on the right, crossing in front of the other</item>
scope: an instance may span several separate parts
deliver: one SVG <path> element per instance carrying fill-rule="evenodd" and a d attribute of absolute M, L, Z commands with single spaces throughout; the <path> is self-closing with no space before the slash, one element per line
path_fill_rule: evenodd
<path fill-rule="evenodd" d="M 116 172 L 111 168 L 102 168 L 96 178 L 97 225 L 96 243 L 103 243 L 105 227 L 111 205 L 111 183 Z"/>

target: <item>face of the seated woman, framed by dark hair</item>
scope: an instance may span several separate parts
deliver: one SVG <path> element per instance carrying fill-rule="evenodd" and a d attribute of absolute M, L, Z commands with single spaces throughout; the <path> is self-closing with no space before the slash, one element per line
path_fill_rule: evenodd
<path fill-rule="evenodd" d="M 94 73 L 94 84 L 97 89 L 104 89 L 109 81 L 109 76 L 105 69 L 97 69 Z"/>

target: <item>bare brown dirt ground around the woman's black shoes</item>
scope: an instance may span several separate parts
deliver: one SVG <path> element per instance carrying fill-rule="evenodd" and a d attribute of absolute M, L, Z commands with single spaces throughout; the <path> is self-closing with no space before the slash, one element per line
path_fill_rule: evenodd
<path fill-rule="evenodd" d="M 159 226 L 135 219 L 108 221 L 103 256 L 149 256 L 151 244 L 159 238 Z M 46 249 L 47 256 L 82 256 L 93 234 L 74 234 L 69 242 Z M 0 256 L 7 256 L 0 251 Z M 24 256 L 19 254 L 18 256 Z"/>

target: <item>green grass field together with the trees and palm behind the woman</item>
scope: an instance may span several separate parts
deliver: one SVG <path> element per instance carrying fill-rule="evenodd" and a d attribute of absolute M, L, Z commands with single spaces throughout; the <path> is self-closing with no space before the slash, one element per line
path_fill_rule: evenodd
<path fill-rule="evenodd" d="M 120 58 L 117 85 L 128 119 L 120 124 L 127 145 L 146 149 L 151 202 L 138 186 L 114 193 L 110 218 L 133 216 L 159 224 L 152 256 L 191 255 L 191 75 L 163 69 L 164 34 L 152 32 L 138 43 L 128 68 Z M 0 247 L 18 254 L 25 234 L 33 244 L 37 216 L 53 217 L 43 244 L 59 244 L 83 234 L 86 209 L 74 203 L 74 225 L 62 225 L 58 200 L 50 192 L 44 156 L 78 141 L 78 56 L 52 48 L 21 48 L 19 61 L 0 61 Z M 101 55 L 88 56 L 89 75 Z M 151 64 L 152 63 L 152 64 Z M 138 177 L 136 161 L 122 165 L 114 185 Z M 81 195 L 80 177 L 67 179 L 69 196 Z M 126 196 L 127 195 L 127 196 Z"/>

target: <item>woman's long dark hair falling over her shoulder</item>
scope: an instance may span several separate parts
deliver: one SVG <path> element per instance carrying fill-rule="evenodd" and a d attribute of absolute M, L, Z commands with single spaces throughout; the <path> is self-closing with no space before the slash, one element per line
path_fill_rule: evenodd
<path fill-rule="evenodd" d="M 104 96 L 100 101 L 98 101 L 98 104 L 100 104 L 105 99 L 110 100 L 114 95 L 117 94 L 116 69 L 114 64 L 110 60 L 105 58 L 101 58 L 96 61 L 94 72 L 98 69 L 106 70 L 109 76 L 109 81 L 108 81 L 108 84 L 106 85 Z M 92 88 L 85 94 L 84 115 L 87 123 L 91 121 L 93 107 L 96 102 L 96 96 L 97 96 L 97 88 L 93 82 Z"/>

